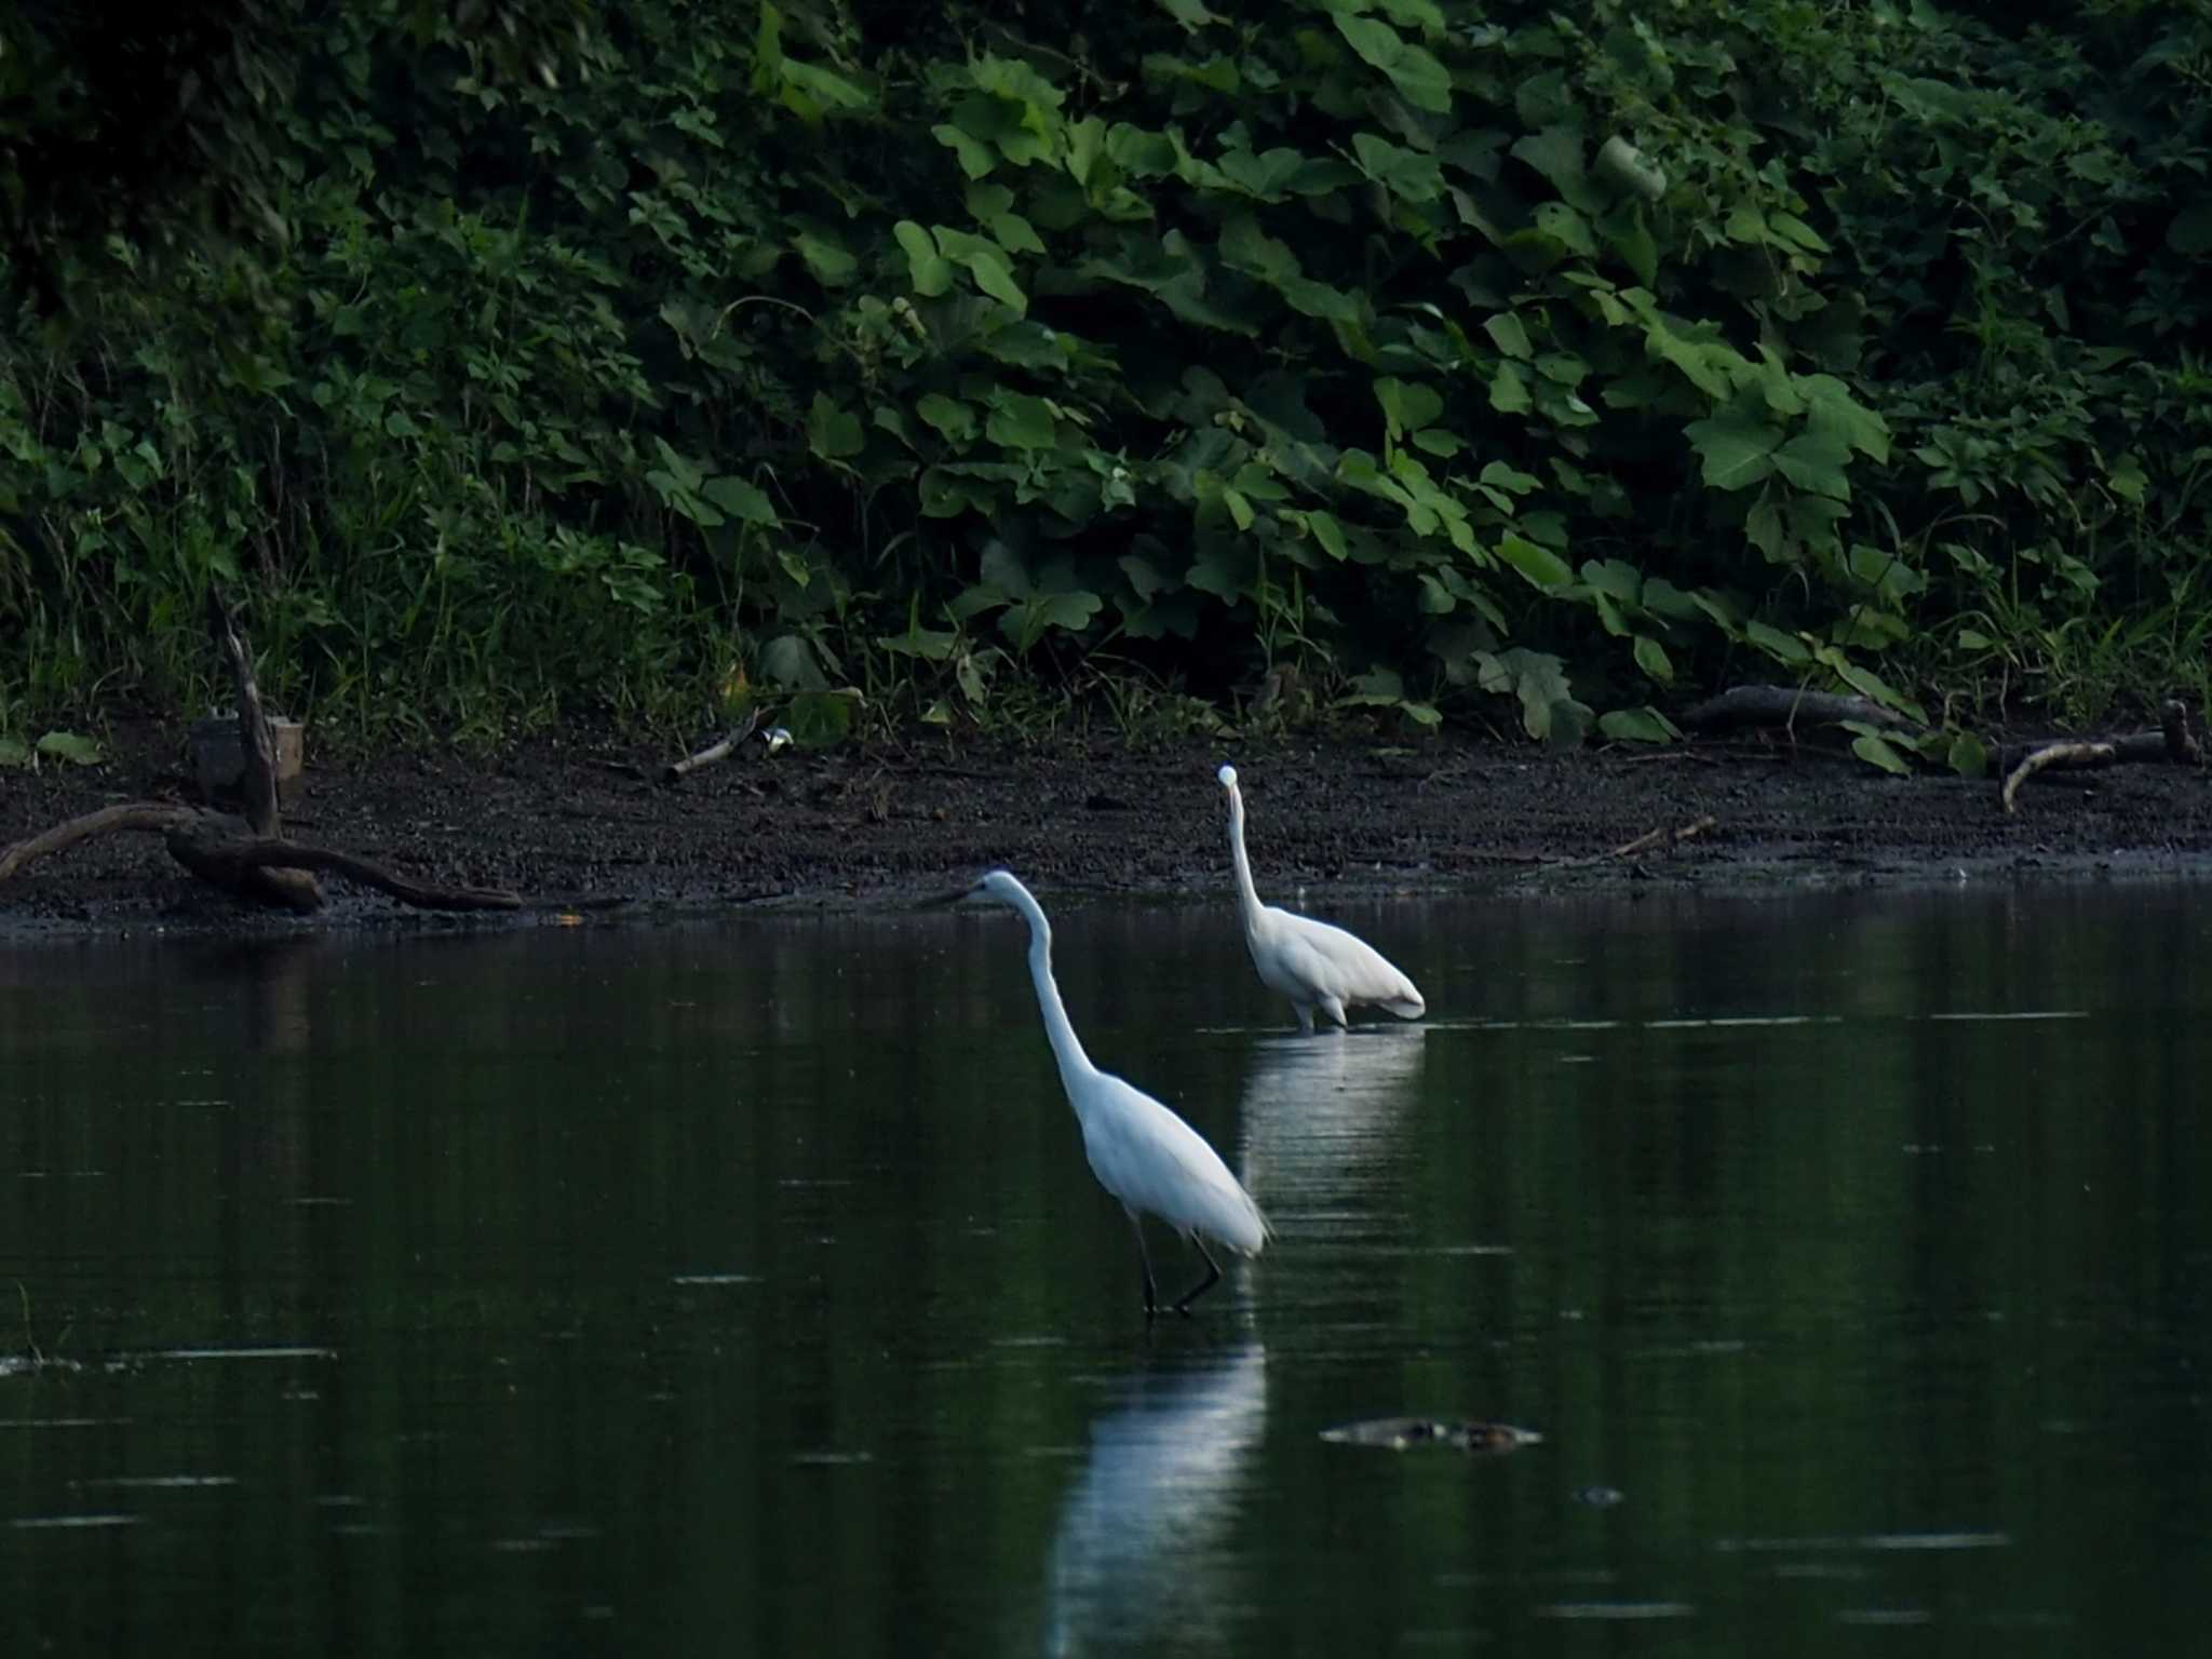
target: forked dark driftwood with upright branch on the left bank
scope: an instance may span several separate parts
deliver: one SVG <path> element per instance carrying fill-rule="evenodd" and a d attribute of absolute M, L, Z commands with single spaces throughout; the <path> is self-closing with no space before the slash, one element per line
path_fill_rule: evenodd
<path fill-rule="evenodd" d="M 522 898 L 515 894 L 418 883 L 347 852 L 288 841 L 283 821 L 276 816 L 276 743 L 270 737 L 268 717 L 261 712 L 261 690 L 254 686 L 246 641 L 239 637 L 221 595 L 212 588 L 208 591 L 208 628 L 217 648 L 230 659 L 230 675 L 239 690 L 239 750 L 246 763 L 239 796 L 246 816 L 161 801 L 100 807 L 100 812 L 86 812 L 82 818 L 69 818 L 53 830 L 18 841 L 13 847 L 0 847 L 0 880 L 40 858 L 75 847 L 80 841 L 139 832 L 159 834 L 170 858 L 179 865 L 257 905 L 303 914 L 321 909 L 323 887 L 312 872 L 327 869 L 418 909 L 522 909 Z"/>

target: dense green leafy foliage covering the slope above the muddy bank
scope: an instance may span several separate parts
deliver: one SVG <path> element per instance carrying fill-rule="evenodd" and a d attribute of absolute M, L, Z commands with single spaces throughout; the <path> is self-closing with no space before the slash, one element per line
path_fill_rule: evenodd
<path fill-rule="evenodd" d="M 268 234 L 80 234 L 0 347 L 33 706 L 195 692 L 212 577 L 296 708 L 743 672 L 810 741 L 1108 657 L 1668 741 L 1747 664 L 1911 710 L 2194 637 L 2190 9 L 257 7 L 290 95 L 201 184 Z"/>

